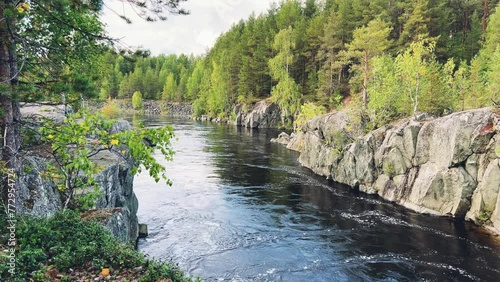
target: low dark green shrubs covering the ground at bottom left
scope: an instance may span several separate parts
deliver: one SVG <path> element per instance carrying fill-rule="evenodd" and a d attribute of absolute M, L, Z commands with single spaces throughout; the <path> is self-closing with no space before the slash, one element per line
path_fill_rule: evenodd
<path fill-rule="evenodd" d="M 9 247 L 5 215 L 0 216 L 1 250 Z M 20 217 L 16 223 L 16 273 L 9 273 L 8 257 L 0 255 L 0 281 L 200 281 L 176 265 L 146 258 L 132 246 L 113 238 L 94 221 L 74 211 L 50 218 Z M 110 275 L 103 277 L 103 269 Z"/>

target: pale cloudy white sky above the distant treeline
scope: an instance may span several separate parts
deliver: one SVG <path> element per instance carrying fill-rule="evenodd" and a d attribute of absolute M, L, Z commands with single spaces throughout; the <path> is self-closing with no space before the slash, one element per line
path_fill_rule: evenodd
<path fill-rule="evenodd" d="M 101 19 L 108 34 L 119 38 L 121 48 L 148 49 L 153 55 L 201 55 L 210 49 L 219 35 L 254 11 L 266 12 L 275 0 L 188 0 L 182 7 L 187 16 L 170 15 L 166 21 L 146 22 L 140 19 L 129 4 L 106 0 Z M 112 10 L 132 19 L 127 24 Z"/>

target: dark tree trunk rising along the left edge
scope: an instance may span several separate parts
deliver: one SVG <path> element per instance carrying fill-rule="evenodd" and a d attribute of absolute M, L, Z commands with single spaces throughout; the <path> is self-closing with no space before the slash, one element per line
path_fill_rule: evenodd
<path fill-rule="evenodd" d="M 12 3 L 10 0 L 0 2 L 0 15 L 2 17 L 4 17 L 6 6 L 10 3 Z M 16 46 L 12 36 L 15 24 L 13 18 L 0 20 L 0 105 L 2 110 L 0 128 L 3 135 L 2 161 L 9 171 L 19 175 L 18 151 L 21 143 L 21 111 L 19 103 L 12 98 L 14 95 L 13 86 L 17 83 Z M 16 181 L 16 187 L 18 187 L 17 183 L 18 180 Z M 7 200 L 8 187 L 9 181 L 6 175 L 3 175 L 2 200 L 4 200 L 4 203 Z"/>

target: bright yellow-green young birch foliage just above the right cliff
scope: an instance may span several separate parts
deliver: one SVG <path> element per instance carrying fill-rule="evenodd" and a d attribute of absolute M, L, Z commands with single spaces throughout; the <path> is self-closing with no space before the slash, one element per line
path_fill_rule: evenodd
<path fill-rule="evenodd" d="M 373 59 L 373 79 L 368 85 L 372 128 L 417 111 L 437 115 L 463 108 L 470 91 L 469 70 L 453 60 L 442 65 L 434 56 L 434 42 L 413 42 L 395 59 Z M 460 105 L 461 104 L 461 105 Z"/>

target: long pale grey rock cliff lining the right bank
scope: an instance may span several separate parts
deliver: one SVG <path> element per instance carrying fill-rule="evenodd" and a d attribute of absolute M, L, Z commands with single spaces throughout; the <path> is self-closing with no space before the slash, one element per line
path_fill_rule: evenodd
<path fill-rule="evenodd" d="M 278 140 L 315 173 L 421 213 L 466 218 L 500 234 L 500 111 L 477 109 L 384 126 L 345 147 L 343 112 Z M 287 140 L 289 138 L 289 140 Z"/>

